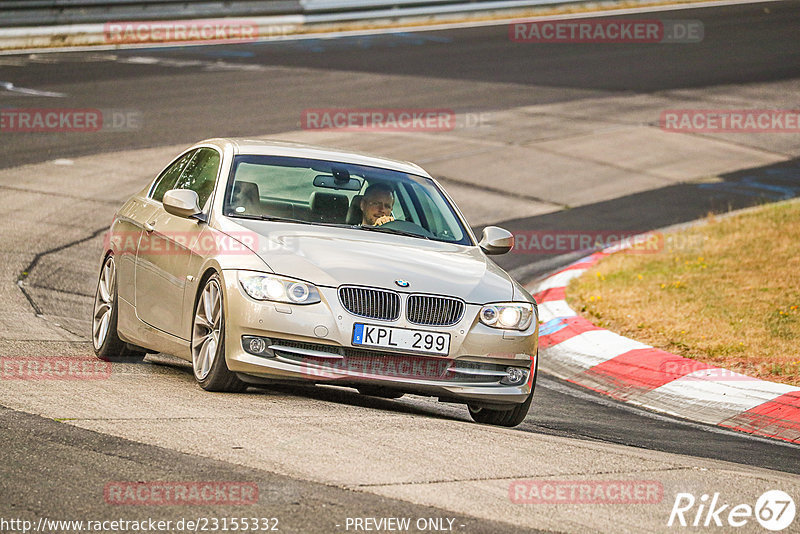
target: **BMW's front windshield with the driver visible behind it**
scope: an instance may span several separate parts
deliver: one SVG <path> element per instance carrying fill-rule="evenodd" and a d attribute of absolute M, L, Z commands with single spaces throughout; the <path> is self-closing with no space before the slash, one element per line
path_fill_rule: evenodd
<path fill-rule="evenodd" d="M 334 161 L 237 156 L 223 213 L 472 244 L 430 178 Z"/>

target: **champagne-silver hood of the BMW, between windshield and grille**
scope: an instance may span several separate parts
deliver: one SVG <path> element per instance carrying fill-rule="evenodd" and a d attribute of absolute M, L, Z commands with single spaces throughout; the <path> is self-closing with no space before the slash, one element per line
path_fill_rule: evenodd
<path fill-rule="evenodd" d="M 478 304 L 514 295 L 511 278 L 478 247 L 350 228 L 236 222 L 258 235 L 251 248 L 273 272 L 316 285 L 452 295 Z"/>

